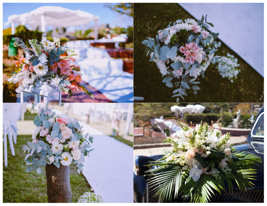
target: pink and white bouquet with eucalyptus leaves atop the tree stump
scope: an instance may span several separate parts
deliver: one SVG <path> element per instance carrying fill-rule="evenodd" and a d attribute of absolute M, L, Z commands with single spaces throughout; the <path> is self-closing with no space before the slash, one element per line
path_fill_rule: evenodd
<path fill-rule="evenodd" d="M 54 164 L 57 168 L 75 164 L 78 173 L 83 171 L 84 156 L 89 157 L 90 143 L 87 141 L 88 133 L 83 134 L 82 126 L 75 119 L 51 113 L 45 116 L 36 116 L 33 123 L 37 126 L 32 134 L 32 142 L 23 145 L 26 172 L 32 170 L 38 174 L 42 172 L 41 166 Z M 93 137 L 89 137 L 93 142 Z"/>

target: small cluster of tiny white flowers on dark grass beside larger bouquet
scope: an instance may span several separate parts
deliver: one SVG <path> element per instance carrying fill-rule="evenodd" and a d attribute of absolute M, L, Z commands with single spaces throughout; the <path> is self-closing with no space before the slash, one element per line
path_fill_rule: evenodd
<path fill-rule="evenodd" d="M 221 57 L 219 59 L 216 69 L 218 69 L 223 78 L 227 77 L 231 82 L 234 82 L 234 80 L 237 79 L 237 74 L 240 72 L 240 70 L 237 68 L 240 66 L 240 64 L 237 62 L 237 58 L 227 53 L 226 57 Z"/>

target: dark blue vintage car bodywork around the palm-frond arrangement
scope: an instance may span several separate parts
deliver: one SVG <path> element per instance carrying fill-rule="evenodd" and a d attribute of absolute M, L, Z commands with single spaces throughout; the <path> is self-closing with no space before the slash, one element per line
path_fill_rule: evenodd
<path fill-rule="evenodd" d="M 227 184 L 225 184 L 225 191 L 221 195 L 215 193 L 211 198 L 213 203 L 263 203 L 264 202 L 264 108 L 258 113 L 256 120 L 254 116 L 249 121 L 254 122 L 250 134 L 245 142 L 234 144 L 232 147 L 238 151 L 248 151 L 261 157 L 262 163 L 257 168 L 257 180 L 252 180 L 254 187 L 247 189 L 246 192 L 239 191 L 237 185 L 233 187 L 233 193 L 227 191 Z M 134 175 L 133 175 L 133 201 L 135 203 L 160 203 L 162 202 L 155 197 L 155 190 L 153 186 L 148 187 L 147 183 L 152 176 L 144 176 L 145 171 L 148 170 L 147 165 L 149 161 L 155 161 L 163 155 L 156 156 L 135 156 Z M 170 202 L 183 203 L 190 202 L 190 197 L 183 200 L 179 196 L 176 199 L 171 199 Z"/>

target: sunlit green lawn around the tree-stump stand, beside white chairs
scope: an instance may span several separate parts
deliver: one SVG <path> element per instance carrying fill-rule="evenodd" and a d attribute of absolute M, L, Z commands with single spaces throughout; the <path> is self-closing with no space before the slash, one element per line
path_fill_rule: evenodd
<path fill-rule="evenodd" d="M 45 168 L 39 175 L 35 171 L 26 173 L 26 164 L 22 146 L 31 141 L 31 135 L 19 135 L 17 144 L 14 145 L 15 156 L 11 155 L 8 146 L 8 166 L 3 161 L 3 203 L 47 203 Z M 85 177 L 74 165 L 70 165 L 70 187 L 72 202 L 77 203 L 77 198 L 86 192 L 90 185 Z"/>

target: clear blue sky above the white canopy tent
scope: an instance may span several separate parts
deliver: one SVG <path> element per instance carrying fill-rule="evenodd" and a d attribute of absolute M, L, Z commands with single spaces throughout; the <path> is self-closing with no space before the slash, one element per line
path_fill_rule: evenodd
<path fill-rule="evenodd" d="M 104 7 L 104 3 L 3 3 L 3 23 L 7 22 L 7 18 L 12 14 L 23 14 L 40 6 L 61 6 L 72 10 L 80 9 L 98 15 L 99 25 L 108 23 L 110 26 L 133 26 L 133 18 Z M 10 26 L 3 26 L 3 29 Z"/>

